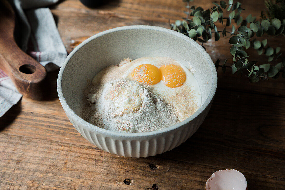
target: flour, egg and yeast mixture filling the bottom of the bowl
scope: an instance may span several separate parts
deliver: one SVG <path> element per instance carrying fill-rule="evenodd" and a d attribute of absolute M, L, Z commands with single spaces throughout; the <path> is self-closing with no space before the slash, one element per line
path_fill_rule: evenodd
<path fill-rule="evenodd" d="M 171 58 L 127 58 L 94 76 L 87 100 L 91 124 L 144 133 L 190 117 L 201 106 L 201 92 L 193 74 Z"/>

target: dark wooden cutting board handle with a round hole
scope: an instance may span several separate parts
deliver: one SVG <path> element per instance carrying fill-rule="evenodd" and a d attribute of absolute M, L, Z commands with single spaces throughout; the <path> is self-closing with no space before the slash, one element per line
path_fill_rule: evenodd
<path fill-rule="evenodd" d="M 21 94 L 40 100 L 45 94 L 46 69 L 17 46 L 14 13 L 4 0 L 0 1 L 0 17 L 0 68 Z"/>

